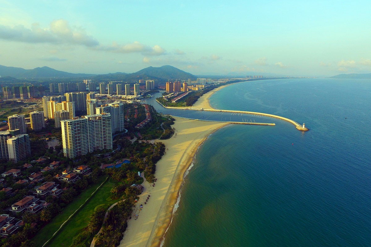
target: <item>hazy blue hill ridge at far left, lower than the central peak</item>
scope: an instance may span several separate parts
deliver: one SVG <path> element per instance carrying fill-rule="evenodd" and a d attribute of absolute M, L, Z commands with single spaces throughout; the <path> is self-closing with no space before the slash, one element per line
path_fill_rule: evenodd
<path fill-rule="evenodd" d="M 6 67 L 0 65 L 0 76 L 1 77 L 15 77 L 15 78 L 50 78 L 50 77 L 68 77 L 68 78 L 79 78 L 89 77 L 93 74 L 73 74 L 64 71 L 55 70 L 49 67 L 37 67 L 32 70 L 26 70 L 24 68 Z"/>

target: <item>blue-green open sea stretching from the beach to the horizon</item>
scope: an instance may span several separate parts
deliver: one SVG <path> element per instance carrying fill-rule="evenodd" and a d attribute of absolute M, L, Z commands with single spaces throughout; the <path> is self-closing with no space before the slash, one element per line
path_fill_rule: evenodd
<path fill-rule="evenodd" d="M 217 109 L 305 122 L 229 125 L 200 147 L 164 247 L 371 246 L 371 81 L 282 79 L 217 91 Z"/>

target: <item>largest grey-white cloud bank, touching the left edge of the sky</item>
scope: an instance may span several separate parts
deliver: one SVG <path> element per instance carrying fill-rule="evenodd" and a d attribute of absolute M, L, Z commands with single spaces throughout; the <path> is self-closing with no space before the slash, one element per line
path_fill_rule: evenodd
<path fill-rule="evenodd" d="M 99 45 L 83 28 L 71 28 L 68 21 L 63 19 L 52 21 L 49 28 L 41 28 L 39 23 L 33 23 L 31 28 L 0 25 L 0 38 L 25 43 L 77 44 L 87 47 Z"/>

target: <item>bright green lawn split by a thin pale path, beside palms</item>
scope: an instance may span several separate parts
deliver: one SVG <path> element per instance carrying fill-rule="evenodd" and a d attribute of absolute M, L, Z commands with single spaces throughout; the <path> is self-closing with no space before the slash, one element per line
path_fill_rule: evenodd
<path fill-rule="evenodd" d="M 57 215 L 53 220 L 47 224 L 43 229 L 37 233 L 32 239 L 36 243 L 36 247 L 41 247 L 43 244 L 53 236 L 64 221 L 75 212 L 78 207 L 85 202 L 86 199 L 96 190 L 99 185 L 106 179 L 102 176 L 98 179 L 98 183 L 83 191 L 78 198 L 72 203 L 68 204 L 63 210 L 62 214 Z M 84 227 L 88 225 L 89 217 L 94 212 L 96 206 L 100 204 L 114 204 L 118 200 L 107 200 L 111 195 L 111 188 L 116 182 L 112 179 L 106 181 L 101 188 L 92 196 L 92 198 L 83 206 L 59 231 L 59 233 L 47 244 L 47 246 L 65 246 L 68 247 L 72 243 L 72 238 L 76 236 Z"/>

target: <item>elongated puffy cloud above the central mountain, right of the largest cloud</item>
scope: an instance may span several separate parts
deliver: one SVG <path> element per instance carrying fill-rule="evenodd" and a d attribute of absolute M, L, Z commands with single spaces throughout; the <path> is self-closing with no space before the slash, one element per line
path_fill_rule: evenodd
<path fill-rule="evenodd" d="M 142 53 L 143 55 L 162 55 L 165 50 L 160 45 L 150 47 L 148 45 L 141 44 L 139 41 L 134 41 L 131 44 L 119 45 L 116 42 L 110 46 L 96 47 L 96 50 L 110 51 L 113 53 Z"/>

